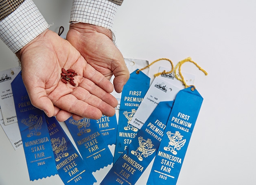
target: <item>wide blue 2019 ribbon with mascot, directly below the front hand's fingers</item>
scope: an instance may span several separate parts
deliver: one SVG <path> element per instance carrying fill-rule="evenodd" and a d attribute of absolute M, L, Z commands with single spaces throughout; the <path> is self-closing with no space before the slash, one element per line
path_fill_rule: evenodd
<path fill-rule="evenodd" d="M 112 164 L 113 155 L 98 131 L 96 120 L 69 118 L 66 125 L 77 145 L 83 160 L 88 163 L 90 170 L 96 172 Z"/>

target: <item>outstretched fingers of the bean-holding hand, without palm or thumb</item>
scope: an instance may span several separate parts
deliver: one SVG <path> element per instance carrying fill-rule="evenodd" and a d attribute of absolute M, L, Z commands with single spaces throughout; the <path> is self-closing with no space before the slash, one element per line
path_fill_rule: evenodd
<path fill-rule="evenodd" d="M 56 101 L 55 105 L 62 109 L 56 115 L 58 121 L 67 120 L 72 114 L 75 120 L 84 117 L 99 119 L 102 114 L 114 116 L 117 100 L 90 80 L 84 79 L 70 94 Z"/>

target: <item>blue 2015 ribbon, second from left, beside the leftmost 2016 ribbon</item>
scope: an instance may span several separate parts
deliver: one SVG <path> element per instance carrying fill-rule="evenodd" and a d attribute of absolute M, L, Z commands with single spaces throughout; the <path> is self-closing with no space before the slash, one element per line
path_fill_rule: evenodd
<path fill-rule="evenodd" d="M 55 117 L 46 116 L 56 168 L 65 185 L 92 185 L 96 179 Z"/>

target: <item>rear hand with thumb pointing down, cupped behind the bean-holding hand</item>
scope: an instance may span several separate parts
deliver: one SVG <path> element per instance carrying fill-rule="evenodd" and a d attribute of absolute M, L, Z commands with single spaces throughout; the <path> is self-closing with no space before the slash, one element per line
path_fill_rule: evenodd
<path fill-rule="evenodd" d="M 112 41 L 110 30 L 92 24 L 71 24 L 66 39 L 108 80 L 114 74 L 114 88 L 116 92 L 122 92 L 129 71 L 123 55 Z"/>

